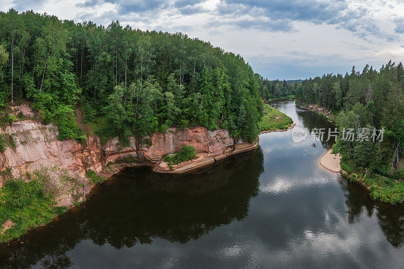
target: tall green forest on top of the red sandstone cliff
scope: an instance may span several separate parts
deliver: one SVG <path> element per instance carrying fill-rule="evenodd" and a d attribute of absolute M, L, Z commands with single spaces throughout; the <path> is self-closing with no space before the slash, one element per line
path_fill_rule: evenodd
<path fill-rule="evenodd" d="M 262 81 L 239 55 L 184 34 L 0 12 L 0 105 L 32 100 L 60 139 L 83 140 L 75 120 L 103 138 L 170 126 L 228 129 L 254 140 Z"/>

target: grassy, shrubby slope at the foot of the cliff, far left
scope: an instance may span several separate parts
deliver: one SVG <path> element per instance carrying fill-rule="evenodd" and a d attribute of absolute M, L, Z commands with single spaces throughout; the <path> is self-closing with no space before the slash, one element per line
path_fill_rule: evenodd
<path fill-rule="evenodd" d="M 1 174 L 6 180 L 0 188 L 0 243 L 47 224 L 63 214 L 73 202 L 79 204 L 85 199 L 81 181 L 58 167 L 43 167 L 26 173 L 24 180 L 14 178 L 9 169 Z M 91 170 L 87 177 L 92 185 L 104 180 Z M 67 201 L 66 197 L 73 201 Z"/>

